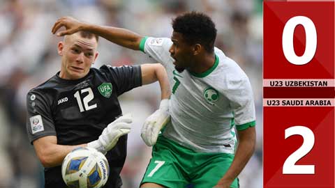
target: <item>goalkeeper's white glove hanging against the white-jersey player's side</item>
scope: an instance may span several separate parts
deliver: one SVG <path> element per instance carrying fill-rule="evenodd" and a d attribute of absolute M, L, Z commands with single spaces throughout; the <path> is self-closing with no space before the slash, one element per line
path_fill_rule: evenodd
<path fill-rule="evenodd" d="M 141 137 L 147 146 L 154 146 L 161 129 L 170 121 L 169 100 L 161 101 L 159 109 L 149 116 L 142 127 Z"/>

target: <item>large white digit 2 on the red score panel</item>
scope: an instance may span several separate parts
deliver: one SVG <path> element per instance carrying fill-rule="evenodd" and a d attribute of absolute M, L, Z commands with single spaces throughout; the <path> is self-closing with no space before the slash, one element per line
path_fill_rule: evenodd
<path fill-rule="evenodd" d="M 314 134 L 308 127 L 295 126 L 285 130 L 285 139 L 295 134 L 301 135 L 304 142 L 298 150 L 293 152 L 288 159 L 285 160 L 283 174 L 314 174 L 314 165 L 295 165 L 301 157 L 304 157 L 313 148 L 315 141 Z"/>

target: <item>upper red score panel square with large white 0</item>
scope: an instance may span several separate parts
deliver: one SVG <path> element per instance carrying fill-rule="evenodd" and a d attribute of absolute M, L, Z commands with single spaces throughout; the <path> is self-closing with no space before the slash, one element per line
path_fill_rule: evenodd
<path fill-rule="evenodd" d="M 264 79 L 334 79 L 334 1 L 264 2 Z"/>

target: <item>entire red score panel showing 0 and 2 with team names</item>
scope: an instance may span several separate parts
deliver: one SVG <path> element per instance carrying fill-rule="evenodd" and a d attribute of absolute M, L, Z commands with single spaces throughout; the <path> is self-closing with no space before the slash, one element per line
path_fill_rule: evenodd
<path fill-rule="evenodd" d="M 263 185 L 335 187 L 335 2 L 263 5 Z"/>

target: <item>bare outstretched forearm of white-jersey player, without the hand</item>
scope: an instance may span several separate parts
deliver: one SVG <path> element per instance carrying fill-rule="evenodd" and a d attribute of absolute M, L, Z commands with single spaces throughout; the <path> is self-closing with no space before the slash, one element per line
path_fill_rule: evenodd
<path fill-rule="evenodd" d="M 142 37 L 133 31 L 129 31 L 128 29 L 111 26 L 98 26 L 94 24 L 83 24 L 82 30 L 95 33 L 96 35 L 123 47 L 134 50 L 140 49 L 140 42 Z"/>

